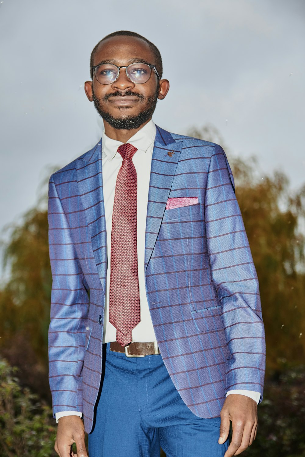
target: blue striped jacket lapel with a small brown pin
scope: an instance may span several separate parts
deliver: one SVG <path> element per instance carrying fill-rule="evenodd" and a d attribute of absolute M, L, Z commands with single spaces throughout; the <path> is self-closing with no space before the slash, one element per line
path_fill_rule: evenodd
<path fill-rule="evenodd" d="M 166 130 L 158 126 L 156 128 L 147 205 L 145 270 L 155 247 L 183 144 L 183 141 L 176 143 Z"/>

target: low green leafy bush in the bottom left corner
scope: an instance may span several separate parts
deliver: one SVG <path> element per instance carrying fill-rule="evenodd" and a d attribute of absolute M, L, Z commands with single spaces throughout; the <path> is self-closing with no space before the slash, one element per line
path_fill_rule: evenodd
<path fill-rule="evenodd" d="M 0 359 L 0 457 L 54 456 L 51 409 L 21 388 L 15 374 L 16 369 Z"/>

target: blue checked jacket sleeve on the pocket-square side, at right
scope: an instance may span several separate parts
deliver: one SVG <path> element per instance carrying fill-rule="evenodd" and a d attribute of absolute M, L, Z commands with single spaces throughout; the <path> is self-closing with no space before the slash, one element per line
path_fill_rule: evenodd
<path fill-rule="evenodd" d="M 233 175 L 218 145 L 210 160 L 204 211 L 213 283 L 230 351 L 226 392 L 252 390 L 260 392 L 262 400 L 265 340 L 257 273 Z"/>

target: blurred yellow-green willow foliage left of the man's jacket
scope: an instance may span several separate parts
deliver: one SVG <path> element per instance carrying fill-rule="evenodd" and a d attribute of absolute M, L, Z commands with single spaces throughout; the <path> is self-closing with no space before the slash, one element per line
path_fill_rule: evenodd
<path fill-rule="evenodd" d="M 52 285 L 46 211 L 35 208 L 24 215 L 11 233 L 4 262 L 10 267 L 10 280 L 0 297 L 5 336 L 11 339 L 20 329 L 25 330 L 32 347 L 45 358 Z"/>

